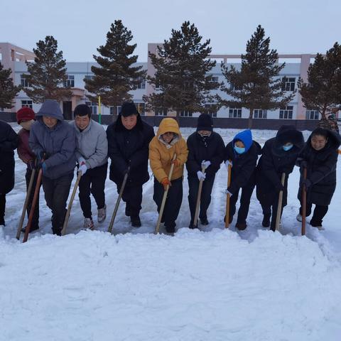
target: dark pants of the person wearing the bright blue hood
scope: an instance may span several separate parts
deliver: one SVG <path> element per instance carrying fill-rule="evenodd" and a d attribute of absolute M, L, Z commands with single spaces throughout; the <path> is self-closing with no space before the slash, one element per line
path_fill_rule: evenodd
<path fill-rule="evenodd" d="M 229 198 L 229 222 L 232 222 L 234 213 L 236 212 L 236 204 L 239 196 L 239 190 Z M 246 223 L 249 213 L 250 200 L 254 191 L 254 183 L 249 183 L 242 187 L 242 195 L 240 196 L 240 206 L 238 210 L 237 223 Z"/>

